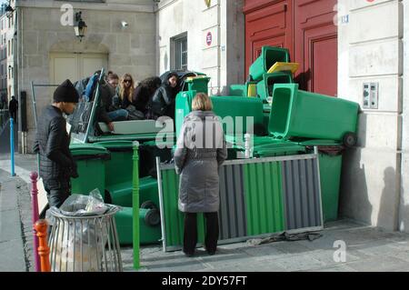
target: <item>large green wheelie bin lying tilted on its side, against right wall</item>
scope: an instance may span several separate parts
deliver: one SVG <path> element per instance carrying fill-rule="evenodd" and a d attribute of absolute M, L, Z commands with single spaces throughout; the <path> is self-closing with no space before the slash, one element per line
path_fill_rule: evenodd
<path fill-rule="evenodd" d="M 277 138 L 325 139 L 356 144 L 359 105 L 305 92 L 297 84 L 274 85 L 268 131 Z"/>

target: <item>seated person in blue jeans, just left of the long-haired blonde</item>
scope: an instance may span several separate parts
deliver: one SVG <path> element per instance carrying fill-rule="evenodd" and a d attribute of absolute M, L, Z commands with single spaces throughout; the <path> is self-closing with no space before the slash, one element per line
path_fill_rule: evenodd
<path fill-rule="evenodd" d="M 114 97 L 116 95 L 116 87 L 119 84 L 119 77 L 116 74 L 111 74 L 106 77 L 106 84 L 100 88 L 100 102 L 98 108 L 98 121 L 104 122 L 109 131 L 114 131 L 114 121 L 125 121 L 128 117 L 128 112 L 122 108 L 115 108 Z"/>

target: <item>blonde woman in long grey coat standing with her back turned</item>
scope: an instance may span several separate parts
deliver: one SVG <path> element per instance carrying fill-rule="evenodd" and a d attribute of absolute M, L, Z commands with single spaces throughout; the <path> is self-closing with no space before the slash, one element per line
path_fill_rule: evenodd
<path fill-rule="evenodd" d="M 188 256 L 195 254 L 197 213 L 205 214 L 205 249 L 209 255 L 214 255 L 219 237 L 218 169 L 227 149 L 223 127 L 212 109 L 207 95 L 195 95 L 193 112 L 185 117 L 174 156 L 176 173 L 180 174 L 178 206 L 185 213 L 184 253 Z"/>

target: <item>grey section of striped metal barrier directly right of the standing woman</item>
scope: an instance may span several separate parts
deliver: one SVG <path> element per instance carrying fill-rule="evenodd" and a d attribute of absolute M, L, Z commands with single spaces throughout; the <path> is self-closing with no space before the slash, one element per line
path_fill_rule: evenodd
<path fill-rule="evenodd" d="M 245 236 L 243 165 L 220 169 L 219 240 Z"/>

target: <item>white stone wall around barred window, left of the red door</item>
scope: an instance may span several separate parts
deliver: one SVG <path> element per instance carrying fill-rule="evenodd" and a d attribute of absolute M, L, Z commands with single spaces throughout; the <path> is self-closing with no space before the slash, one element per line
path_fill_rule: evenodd
<path fill-rule="evenodd" d="M 158 74 L 171 69 L 171 38 L 187 32 L 187 68 L 211 77 L 210 93 L 227 94 L 227 86 L 244 83 L 243 0 L 161 1 L 157 10 Z M 171 21 L 169 19 L 172 19 Z M 212 44 L 206 35 L 212 34 Z"/>

